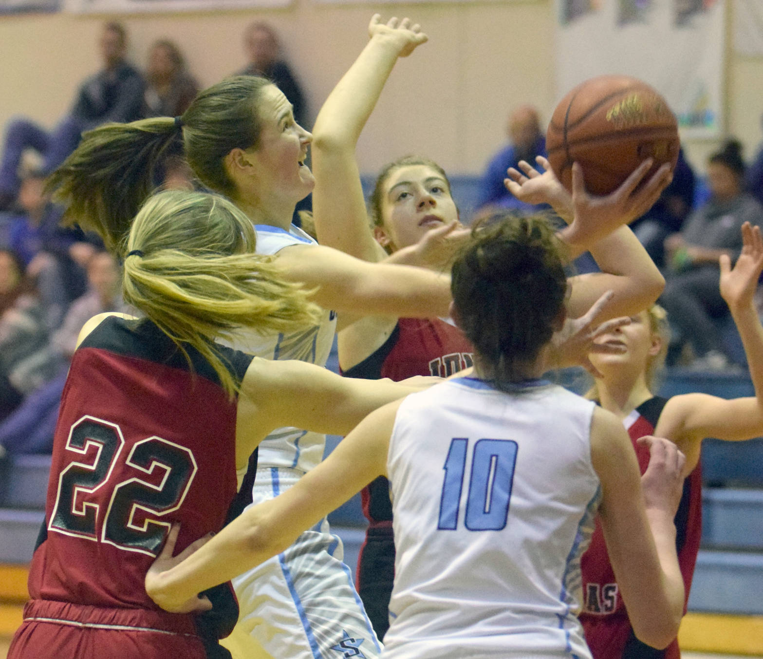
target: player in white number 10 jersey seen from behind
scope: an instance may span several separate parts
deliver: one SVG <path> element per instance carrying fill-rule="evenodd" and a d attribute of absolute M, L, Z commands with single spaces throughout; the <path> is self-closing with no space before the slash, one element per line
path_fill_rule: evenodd
<path fill-rule="evenodd" d="M 684 602 L 673 525 L 684 458 L 645 439 L 652 463 L 639 484 L 619 420 L 538 379 L 565 315 L 552 230 L 507 218 L 475 232 L 453 265 L 452 291 L 474 375 L 373 412 L 288 492 L 195 553 L 172 558 L 168 544 L 146 575 L 160 606 L 183 606 L 281 551 L 386 473 L 398 554 L 382 656 L 590 657 L 575 613 L 597 509 L 636 633 L 670 643 Z M 348 635 L 340 647 L 361 640 Z"/>

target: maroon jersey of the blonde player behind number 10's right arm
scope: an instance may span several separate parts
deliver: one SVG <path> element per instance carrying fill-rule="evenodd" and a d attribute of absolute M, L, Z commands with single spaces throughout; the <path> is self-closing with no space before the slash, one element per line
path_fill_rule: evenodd
<path fill-rule="evenodd" d="M 626 420 L 626 428 L 636 449 L 639 469 L 644 473 L 649 465 L 649 448 L 636 444 L 645 434 L 653 434 L 667 399 L 655 396 L 643 402 Z M 686 599 L 689 598 L 691 577 L 700 548 L 702 535 L 702 471 L 700 464 L 684 480 L 684 494 L 675 516 L 678 564 L 684 577 Z M 633 634 L 620 590 L 610 565 L 604 533 L 599 520 L 591 544 L 581 559 L 584 607 L 580 615 L 585 640 L 594 659 L 678 659 L 681 651 L 678 640 L 665 650 L 657 650 L 639 641 Z M 685 612 L 685 603 L 684 603 Z"/>

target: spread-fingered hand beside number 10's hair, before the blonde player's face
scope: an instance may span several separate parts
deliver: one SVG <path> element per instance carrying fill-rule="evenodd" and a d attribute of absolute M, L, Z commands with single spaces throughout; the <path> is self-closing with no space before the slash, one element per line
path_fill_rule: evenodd
<path fill-rule="evenodd" d="M 592 352 L 620 354 L 625 352 L 625 346 L 621 344 L 597 344 L 596 339 L 608 334 L 616 328 L 630 324 L 630 318 L 612 318 L 609 321 L 595 325 L 597 315 L 610 301 L 612 291 L 607 291 L 591 305 L 591 309 L 581 315 L 580 318 L 567 318 L 562 329 L 556 332 L 552 338 L 559 366 L 581 366 L 594 377 L 601 377 L 599 371 L 591 363 L 589 357 Z"/>

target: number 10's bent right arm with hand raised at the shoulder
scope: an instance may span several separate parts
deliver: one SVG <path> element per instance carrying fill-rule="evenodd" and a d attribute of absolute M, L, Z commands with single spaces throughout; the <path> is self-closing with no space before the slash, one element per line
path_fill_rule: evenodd
<path fill-rule="evenodd" d="M 670 441 L 649 438 L 649 468 L 639 464 L 623 425 L 594 411 L 591 459 L 601 481 L 599 517 L 607 552 L 636 637 L 665 648 L 678 634 L 684 582 L 673 518 L 683 486 L 684 456 Z"/>

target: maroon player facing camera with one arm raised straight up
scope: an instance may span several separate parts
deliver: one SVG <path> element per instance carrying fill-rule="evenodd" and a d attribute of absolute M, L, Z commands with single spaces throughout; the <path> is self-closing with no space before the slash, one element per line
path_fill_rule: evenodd
<path fill-rule="evenodd" d="M 420 26 L 404 18 L 381 23 L 374 15 L 369 43 L 329 95 L 315 122 L 313 166 L 314 220 L 321 244 L 336 247 L 363 260 L 412 263 L 445 270 L 449 257 L 468 231 L 459 231 L 459 211 L 450 195 L 442 167 L 423 157 L 405 157 L 381 171 L 370 199 L 373 230 L 363 201 L 356 147 L 365 122 L 398 60 L 422 40 Z M 645 170 L 633 179 L 639 183 Z M 633 188 L 610 199 L 613 215 L 636 217 L 658 197 L 666 171 L 631 199 Z M 585 216 L 600 203 L 578 194 Z M 588 205 L 585 206 L 584 204 Z M 571 218 L 571 216 L 569 216 Z M 607 275 L 571 279 L 568 312 L 574 318 L 588 310 L 607 289 L 616 294 L 604 317 L 630 315 L 645 309 L 658 295 L 661 276 L 628 228 L 618 229 L 591 248 Z M 389 253 L 389 254 L 388 254 Z M 590 297 L 588 297 L 590 296 Z M 338 334 L 340 367 L 349 377 L 413 375 L 450 376 L 472 364 L 472 347 L 452 322 L 443 318 L 405 318 L 371 315 L 359 318 Z M 606 346 L 602 346 L 603 349 Z M 369 528 L 362 546 L 356 583 L 375 631 L 383 638 L 388 628 L 388 603 L 394 576 L 394 540 L 388 482 L 381 476 L 362 491 Z"/>

